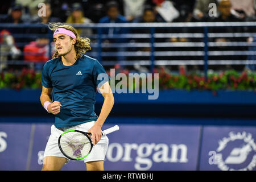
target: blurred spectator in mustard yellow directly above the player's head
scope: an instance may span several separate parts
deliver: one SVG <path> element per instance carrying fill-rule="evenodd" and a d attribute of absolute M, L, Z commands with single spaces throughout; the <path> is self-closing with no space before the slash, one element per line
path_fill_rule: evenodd
<path fill-rule="evenodd" d="M 88 24 L 92 23 L 92 20 L 89 18 L 85 18 L 84 14 L 82 13 L 82 6 L 80 3 L 74 3 L 72 5 L 72 13 L 68 16 L 67 23 L 80 23 L 80 24 Z M 92 29 L 91 28 L 77 28 L 77 32 L 81 36 L 89 36 L 92 35 Z"/>

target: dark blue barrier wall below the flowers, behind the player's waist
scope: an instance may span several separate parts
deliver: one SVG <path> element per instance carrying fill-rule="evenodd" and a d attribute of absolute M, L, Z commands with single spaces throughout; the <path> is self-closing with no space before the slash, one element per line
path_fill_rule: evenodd
<path fill-rule="evenodd" d="M 48 115 L 40 104 L 41 90 L 0 90 L 1 115 Z M 157 100 L 148 94 L 114 94 L 115 104 L 110 115 L 150 117 L 256 117 L 254 91 L 165 90 Z M 96 113 L 100 113 L 103 97 L 96 94 Z"/>

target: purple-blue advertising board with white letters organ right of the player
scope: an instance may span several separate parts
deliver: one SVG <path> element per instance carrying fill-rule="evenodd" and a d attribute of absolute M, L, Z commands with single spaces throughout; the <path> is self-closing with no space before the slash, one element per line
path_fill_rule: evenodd
<path fill-rule="evenodd" d="M 200 126 L 121 125 L 109 134 L 109 170 L 196 170 Z"/>

